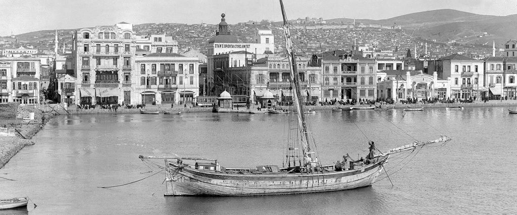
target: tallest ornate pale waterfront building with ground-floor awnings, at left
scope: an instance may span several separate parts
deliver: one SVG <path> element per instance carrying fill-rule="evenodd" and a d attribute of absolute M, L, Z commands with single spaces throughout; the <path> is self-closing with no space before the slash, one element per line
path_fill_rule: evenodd
<path fill-rule="evenodd" d="M 81 28 L 75 31 L 73 56 L 77 77 L 77 104 L 135 104 L 136 36 L 132 25 Z M 136 84 L 136 82 L 135 82 Z"/>

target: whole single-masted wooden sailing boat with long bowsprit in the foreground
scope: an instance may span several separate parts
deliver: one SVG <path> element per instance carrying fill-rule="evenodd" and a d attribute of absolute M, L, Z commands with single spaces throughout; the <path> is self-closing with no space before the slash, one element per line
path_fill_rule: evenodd
<path fill-rule="evenodd" d="M 371 186 L 379 176 L 389 157 L 394 153 L 423 147 L 427 144 L 447 142 L 448 137 L 435 141 L 414 142 L 387 152 L 374 153 L 370 147 L 366 160 L 343 162 L 342 165 L 322 165 L 318 161 L 314 139 L 303 114 L 299 75 L 293 51 L 290 30 L 284 6 L 283 30 L 290 61 L 293 88 L 293 111 L 289 119 L 294 125 L 286 148 L 285 162 L 277 165 L 258 165 L 256 168 L 225 168 L 217 159 L 193 157 L 140 156 L 141 159 L 165 159 L 165 195 L 251 196 L 315 193 L 355 189 Z M 185 161 L 185 163 L 184 163 Z M 187 164 L 188 162 L 194 164 Z"/>

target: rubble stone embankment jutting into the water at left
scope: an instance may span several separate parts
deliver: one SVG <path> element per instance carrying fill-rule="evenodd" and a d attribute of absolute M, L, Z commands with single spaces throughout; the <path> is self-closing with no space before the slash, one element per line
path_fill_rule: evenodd
<path fill-rule="evenodd" d="M 30 139 L 54 116 L 51 113 L 42 113 L 30 106 L 19 106 L 17 118 L 28 118 L 29 113 L 34 113 L 34 120 L 21 122 L 11 128 L 5 128 L 6 132 L 0 135 L 0 168 L 27 145 L 34 145 Z"/>

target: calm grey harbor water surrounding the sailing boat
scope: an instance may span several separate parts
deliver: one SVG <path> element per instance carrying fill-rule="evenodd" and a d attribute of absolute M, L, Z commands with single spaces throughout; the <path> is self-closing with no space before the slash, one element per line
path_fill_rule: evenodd
<path fill-rule="evenodd" d="M 226 167 L 281 165 L 287 117 L 187 113 L 59 116 L 2 169 L 0 197 L 29 196 L 29 213 L 471 214 L 515 213 L 517 115 L 506 108 L 330 112 L 308 116 L 320 160 L 366 156 L 368 139 L 388 150 L 454 137 L 387 164 L 394 187 L 257 197 L 163 196 L 163 174 L 149 176 L 139 155 L 217 158 Z M 355 124 L 354 124 L 355 122 Z M 364 132 L 363 135 L 362 132 Z M 409 161 L 407 165 L 404 162 Z M 163 160 L 156 160 L 162 164 Z M 407 163 L 407 162 L 406 162 Z M 403 167 L 403 168 L 401 168 Z M 379 179 L 384 178 L 379 176 Z M 2 213 L 2 212 L 0 212 Z"/>

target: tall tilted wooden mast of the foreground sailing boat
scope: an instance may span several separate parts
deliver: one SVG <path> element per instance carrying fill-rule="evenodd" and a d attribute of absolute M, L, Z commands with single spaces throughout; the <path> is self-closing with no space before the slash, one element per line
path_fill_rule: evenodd
<path fill-rule="evenodd" d="M 287 50 L 287 58 L 289 59 L 289 62 L 291 63 L 290 69 L 291 69 L 291 82 L 293 83 L 293 103 L 294 108 L 297 112 L 297 119 L 298 119 L 298 125 L 301 126 L 300 129 L 300 139 L 302 143 L 302 152 L 303 152 L 303 160 L 307 163 L 310 162 L 306 159 L 306 157 L 311 158 L 312 153 L 309 153 L 311 151 L 311 148 L 309 146 L 309 132 L 307 131 L 307 122 L 305 121 L 305 115 L 303 113 L 303 107 L 301 106 L 301 92 L 300 92 L 300 76 L 298 74 L 298 69 L 296 67 L 296 59 L 295 54 L 293 51 L 293 41 L 291 40 L 291 33 L 289 31 L 289 27 L 287 26 L 287 17 L 285 16 L 285 10 L 284 10 L 284 4 L 282 0 L 280 0 L 280 8 L 282 9 L 282 18 L 284 20 L 283 30 L 284 30 L 284 37 L 285 37 L 285 49 Z"/>

